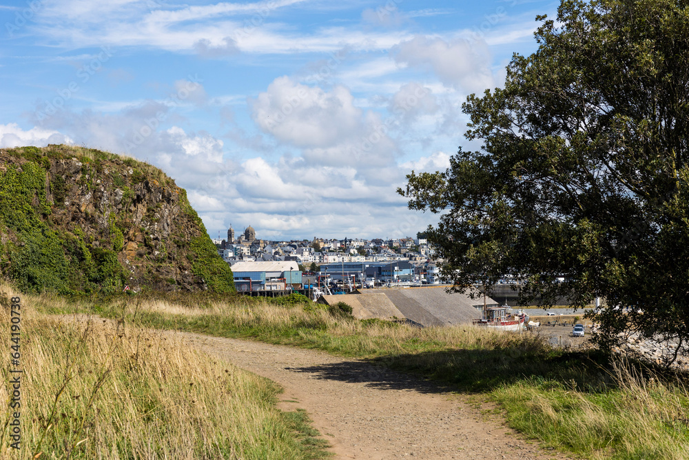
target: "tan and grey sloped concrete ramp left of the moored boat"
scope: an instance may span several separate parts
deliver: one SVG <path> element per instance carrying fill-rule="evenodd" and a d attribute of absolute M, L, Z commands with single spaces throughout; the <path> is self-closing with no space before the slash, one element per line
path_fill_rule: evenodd
<path fill-rule="evenodd" d="M 352 308 L 358 319 L 409 319 L 422 326 L 450 326 L 467 324 L 481 317 L 482 299 L 472 300 L 464 294 L 448 294 L 445 288 L 364 289 L 360 294 L 323 296 L 322 301 L 332 305 L 340 301 Z M 486 303 L 497 303 L 491 298 Z"/>

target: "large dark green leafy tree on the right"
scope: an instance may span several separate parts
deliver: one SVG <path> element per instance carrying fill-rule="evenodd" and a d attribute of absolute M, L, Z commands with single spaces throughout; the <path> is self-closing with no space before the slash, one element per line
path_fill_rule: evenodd
<path fill-rule="evenodd" d="M 689 339 L 689 9 L 686 1 L 563 1 L 504 89 L 471 95 L 445 172 L 407 176 L 409 207 L 456 290 L 526 283 L 524 299 L 607 301 L 595 340 Z M 564 283 L 556 283 L 565 277 Z M 622 310 L 630 308 L 628 314 Z M 678 348 L 679 349 L 679 348 Z M 669 359 L 676 358 L 676 354 Z"/>

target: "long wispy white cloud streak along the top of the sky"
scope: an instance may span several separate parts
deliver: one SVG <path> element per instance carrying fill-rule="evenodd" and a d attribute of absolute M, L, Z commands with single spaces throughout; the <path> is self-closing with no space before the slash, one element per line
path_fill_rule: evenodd
<path fill-rule="evenodd" d="M 237 50 L 258 54 L 331 52 L 346 45 L 357 50 L 388 50 L 410 38 L 398 30 L 373 33 L 344 27 L 300 32 L 274 19 L 277 10 L 307 1 L 154 5 L 150 10 L 146 2 L 67 0 L 43 8 L 31 28 L 51 46 L 151 47 L 197 52 L 203 57 L 222 57 Z"/>

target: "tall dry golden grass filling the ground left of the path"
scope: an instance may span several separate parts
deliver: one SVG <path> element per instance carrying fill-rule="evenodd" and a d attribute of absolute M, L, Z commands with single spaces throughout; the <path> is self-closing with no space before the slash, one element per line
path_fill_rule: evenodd
<path fill-rule="evenodd" d="M 1 290 L 0 343 L 9 349 L 10 290 Z M 32 308 L 35 297 L 21 297 L 21 450 L 9 446 L 12 388 L 3 385 L 0 458 L 328 457 L 305 414 L 276 409 L 271 381 L 170 334 L 47 317 Z M 16 367 L 2 355 L 9 382 Z"/>

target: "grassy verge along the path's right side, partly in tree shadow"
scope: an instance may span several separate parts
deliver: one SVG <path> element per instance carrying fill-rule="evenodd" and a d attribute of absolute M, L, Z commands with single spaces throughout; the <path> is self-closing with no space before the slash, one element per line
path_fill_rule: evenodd
<path fill-rule="evenodd" d="M 579 457 L 689 458 L 683 375 L 599 352 L 554 350 L 531 334 L 355 321 L 313 305 L 242 297 L 34 301 L 47 312 L 96 312 L 152 328 L 319 348 L 418 372 L 497 401 L 511 426 Z M 370 378 L 380 377 L 374 372 Z"/>

